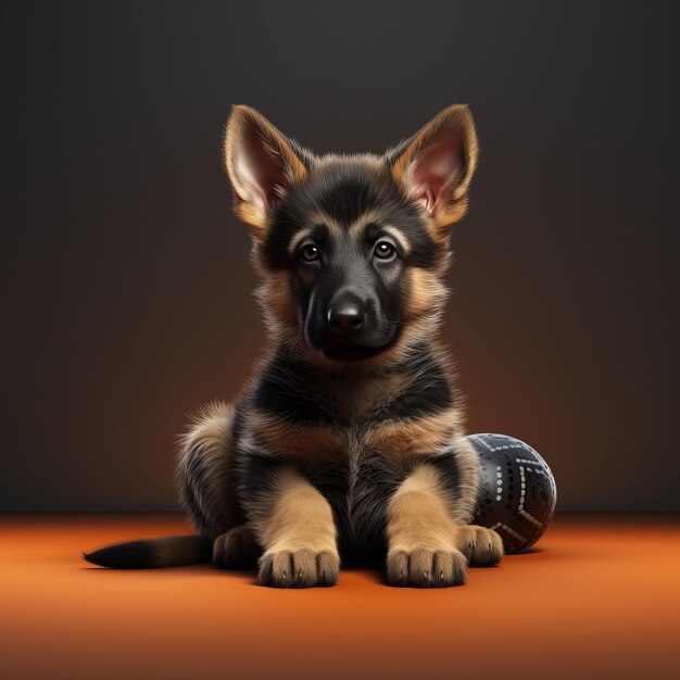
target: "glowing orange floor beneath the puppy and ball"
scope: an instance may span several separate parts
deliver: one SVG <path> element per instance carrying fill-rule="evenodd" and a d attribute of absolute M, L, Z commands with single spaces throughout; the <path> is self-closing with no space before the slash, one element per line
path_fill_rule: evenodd
<path fill-rule="evenodd" d="M 558 516 L 534 552 L 445 590 L 367 570 L 260 588 L 209 566 L 90 568 L 175 516 L 0 516 L 0 678 L 680 677 L 680 516 Z"/>

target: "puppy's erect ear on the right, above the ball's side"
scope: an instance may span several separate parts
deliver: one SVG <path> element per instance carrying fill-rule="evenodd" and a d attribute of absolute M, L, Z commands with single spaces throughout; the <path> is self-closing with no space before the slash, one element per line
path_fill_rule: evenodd
<path fill-rule="evenodd" d="M 449 106 L 413 137 L 387 152 L 392 176 L 406 196 L 431 216 L 435 236 L 467 210 L 467 196 L 477 164 L 477 135 L 469 109 Z"/>

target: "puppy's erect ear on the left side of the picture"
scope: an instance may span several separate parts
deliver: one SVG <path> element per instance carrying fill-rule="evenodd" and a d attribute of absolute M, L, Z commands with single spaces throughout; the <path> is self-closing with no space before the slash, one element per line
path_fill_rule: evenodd
<path fill-rule="evenodd" d="M 290 186 L 307 174 L 302 150 L 250 106 L 234 106 L 225 136 L 225 163 L 236 214 L 261 239 Z"/>

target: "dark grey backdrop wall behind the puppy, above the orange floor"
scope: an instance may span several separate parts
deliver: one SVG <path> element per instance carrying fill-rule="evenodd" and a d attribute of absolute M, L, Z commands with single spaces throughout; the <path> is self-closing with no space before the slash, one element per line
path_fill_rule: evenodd
<path fill-rule="evenodd" d="M 2 3 L 0 508 L 175 507 L 174 437 L 264 342 L 232 103 L 380 151 L 457 102 L 469 430 L 534 445 L 562 509 L 679 508 L 677 8 Z"/>

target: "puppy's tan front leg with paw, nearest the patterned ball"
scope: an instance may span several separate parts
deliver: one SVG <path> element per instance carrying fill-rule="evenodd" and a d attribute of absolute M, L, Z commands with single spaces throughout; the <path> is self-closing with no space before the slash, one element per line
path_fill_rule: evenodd
<path fill-rule="evenodd" d="M 387 581 L 442 588 L 465 582 L 466 556 L 442 476 L 435 465 L 414 468 L 388 504 Z"/>

